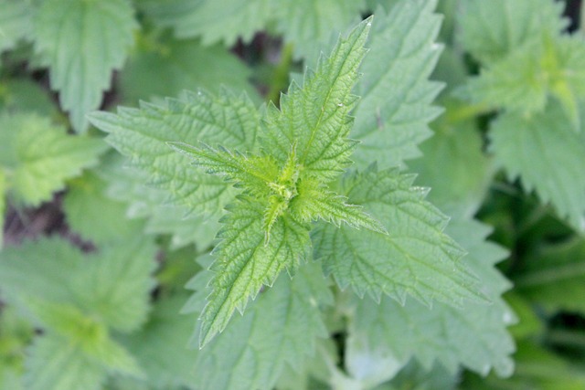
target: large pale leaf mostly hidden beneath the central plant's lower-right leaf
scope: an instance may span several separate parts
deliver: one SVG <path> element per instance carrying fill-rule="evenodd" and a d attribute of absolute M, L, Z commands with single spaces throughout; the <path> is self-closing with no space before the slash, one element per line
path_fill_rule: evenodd
<path fill-rule="evenodd" d="M 482 279 L 482 292 L 492 303 L 467 301 L 461 308 L 437 303 L 431 309 L 415 300 L 402 306 L 386 297 L 379 304 L 356 299 L 349 337 L 362 348 L 349 353 L 376 353 L 402 364 L 415 357 L 427 369 L 438 361 L 453 374 L 460 365 L 484 375 L 492 368 L 499 375 L 512 374 L 509 355 L 515 348 L 505 327 L 515 317 L 500 298 L 510 284 L 494 268 L 505 251 L 484 241 L 489 229 L 478 222 L 453 221 L 448 232 L 469 250 L 466 263 Z"/>

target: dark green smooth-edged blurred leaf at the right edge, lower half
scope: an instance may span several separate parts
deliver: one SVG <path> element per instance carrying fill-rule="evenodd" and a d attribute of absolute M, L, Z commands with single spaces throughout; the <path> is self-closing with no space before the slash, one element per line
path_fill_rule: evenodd
<path fill-rule="evenodd" d="M 549 312 L 585 312 L 585 240 L 550 245 L 524 262 L 514 284 L 524 297 Z"/>

